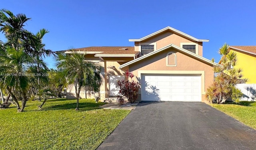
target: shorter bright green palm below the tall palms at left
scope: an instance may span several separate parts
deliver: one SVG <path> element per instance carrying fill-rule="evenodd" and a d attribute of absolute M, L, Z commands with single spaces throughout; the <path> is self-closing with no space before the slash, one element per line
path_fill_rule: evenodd
<path fill-rule="evenodd" d="M 34 60 L 22 49 L 16 50 L 13 47 L 6 48 L 6 55 L 0 55 L 0 68 L 5 75 L 1 76 L 1 87 L 4 87 L 12 96 L 18 111 L 22 112 L 28 101 L 28 76 L 20 73 L 25 71 L 25 66 L 32 65 Z M 9 73 L 9 74 L 8 74 Z M 18 100 L 22 101 L 22 108 Z"/>

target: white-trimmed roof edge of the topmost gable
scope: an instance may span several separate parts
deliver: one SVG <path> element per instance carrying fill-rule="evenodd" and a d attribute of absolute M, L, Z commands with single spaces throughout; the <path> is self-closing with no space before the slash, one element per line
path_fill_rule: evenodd
<path fill-rule="evenodd" d="M 150 35 L 148 35 L 148 36 L 145 36 L 145 37 L 143 37 L 143 38 L 140 38 L 140 39 L 129 39 L 129 41 L 143 41 L 143 40 L 145 40 L 145 39 L 151 38 L 151 37 L 153 37 L 153 36 L 155 36 L 155 35 L 157 35 L 157 34 L 160 34 L 160 33 L 162 33 L 162 32 L 165 32 L 165 31 L 167 31 L 167 30 L 170 30 L 170 31 L 172 31 L 172 32 L 174 32 L 174 33 L 176 33 L 176 34 L 179 34 L 179 35 L 181 35 L 181 36 L 183 36 L 183 37 L 186 37 L 186 38 L 188 38 L 188 39 L 191 39 L 192 41 L 209 41 L 209 39 L 197 39 L 197 38 L 194 38 L 194 37 L 192 37 L 192 36 L 190 36 L 190 35 L 188 35 L 188 34 L 185 34 L 184 32 L 181 32 L 181 31 L 176 30 L 176 29 L 171 28 L 171 27 L 166 27 L 166 28 L 164 28 L 164 29 L 161 29 L 161 30 L 159 30 L 159 31 L 157 31 L 157 32 L 154 32 L 154 33 L 152 33 L 152 34 L 150 34 Z"/>

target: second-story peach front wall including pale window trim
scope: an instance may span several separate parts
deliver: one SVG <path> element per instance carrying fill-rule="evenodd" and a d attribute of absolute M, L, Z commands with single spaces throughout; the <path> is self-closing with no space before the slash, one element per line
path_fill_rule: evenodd
<path fill-rule="evenodd" d="M 194 45 L 195 47 L 195 53 L 202 56 L 203 55 L 203 48 L 202 48 L 202 42 L 197 41 L 191 41 L 190 39 L 184 38 L 178 34 L 175 34 L 171 31 L 165 31 L 162 32 L 152 38 L 146 39 L 141 42 L 135 42 L 135 51 L 141 52 L 141 45 L 154 45 L 150 46 L 149 48 L 153 48 L 154 50 L 160 49 L 162 47 L 165 47 L 166 45 L 174 44 L 179 47 L 183 48 L 183 45 Z M 192 46 L 193 47 L 193 46 Z M 143 55 L 143 53 L 140 53 L 140 56 Z"/>

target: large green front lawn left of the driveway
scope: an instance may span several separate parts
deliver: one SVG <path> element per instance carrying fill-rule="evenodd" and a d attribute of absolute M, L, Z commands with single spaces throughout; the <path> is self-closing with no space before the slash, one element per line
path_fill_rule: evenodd
<path fill-rule="evenodd" d="M 130 113 L 128 110 L 99 109 L 104 103 L 91 99 L 51 99 L 42 110 L 42 102 L 30 101 L 25 112 L 13 106 L 0 110 L 0 148 L 14 149 L 96 149 Z"/>

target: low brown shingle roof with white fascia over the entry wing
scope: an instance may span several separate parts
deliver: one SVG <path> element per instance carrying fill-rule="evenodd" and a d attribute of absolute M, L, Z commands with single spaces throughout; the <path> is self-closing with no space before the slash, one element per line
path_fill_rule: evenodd
<path fill-rule="evenodd" d="M 94 46 L 72 49 L 78 53 L 100 54 L 100 55 L 136 55 L 138 51 L 134 51 L 134 46 Z M 72 53 L 71 50 L 66 50 L 65 53 Z"/>

